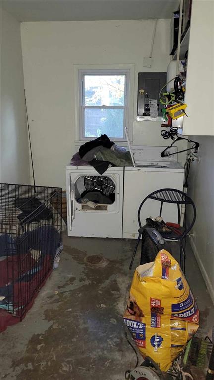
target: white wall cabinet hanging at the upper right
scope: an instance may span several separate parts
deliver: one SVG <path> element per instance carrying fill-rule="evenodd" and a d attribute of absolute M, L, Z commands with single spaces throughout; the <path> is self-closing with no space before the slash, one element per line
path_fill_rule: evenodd
<path fill-rule="evenodd" d="M 193 0 L 183 135 L 214 135 L 214 1 Z"/>

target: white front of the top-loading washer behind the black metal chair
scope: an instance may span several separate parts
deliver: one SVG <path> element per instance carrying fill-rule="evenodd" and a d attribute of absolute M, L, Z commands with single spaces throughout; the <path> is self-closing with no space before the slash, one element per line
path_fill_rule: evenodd
<path fill-rule="evenodd" d="M 183 190 L 183 170 L 125 168 L 124 174 L 124 202 L 123 202 L 123 238 L 137 239 L 138 219 L 137 213 L 140 203 L 150 193 L 163 188 Z M 147 200 L 141 212 L 142 225 L 150 215 L 157 217 L 160 211 L 160 202 Z M 165 222 L 177 223 L 177 205 L 164 203 L 162 217 Z"/>

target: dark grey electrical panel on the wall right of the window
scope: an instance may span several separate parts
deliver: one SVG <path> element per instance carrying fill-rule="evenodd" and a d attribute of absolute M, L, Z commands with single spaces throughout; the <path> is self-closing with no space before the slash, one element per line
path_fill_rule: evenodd
<path fill-rule="evenodd" d="M 150 116 L 150 100 L 157 100 L 158 116 L 163 116 L 159 101 L 161 88 L 166 84 L 166 72 L 138 73 L 137 116 Z"/>

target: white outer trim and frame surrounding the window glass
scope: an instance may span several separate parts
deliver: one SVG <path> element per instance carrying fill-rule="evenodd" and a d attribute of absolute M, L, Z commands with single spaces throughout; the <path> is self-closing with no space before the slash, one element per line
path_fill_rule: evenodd
<path fill-rule="evenodd" d="M 127 126 L 129 136 L 132 140 L 133 129 L 133 103 L 134 103 L 134 65 L 74 65 L 74 101 L 75 101 L 75 142 L 89 141 L 93 137 L 83 136 L 83 108 L 82 108 L 82 77 L 83 74 L 125 74 L 126 75 L 126 105 L 124 108 L 124 127 Z M 87 106 L 85 106 L 87 108 Z M 100 106 L 98 107 L 100 108 Z M 114 107 L 104 107 L 114 108 Z M 120 107 L 115 107 L 120 108 Z M 123 108 L 121 106 L 121 108 Z M 115 142 L 126 141 L 125 135 L 122 138 L 113 138 Z"/>

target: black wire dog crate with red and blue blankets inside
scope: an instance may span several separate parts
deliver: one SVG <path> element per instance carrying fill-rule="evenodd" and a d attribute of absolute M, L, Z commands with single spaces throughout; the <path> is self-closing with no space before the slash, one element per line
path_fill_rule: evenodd
<path fill-rule="evenodd" d="M 62 248 L 62 189 L 1 183 L 1 311 L 24 317 Z"/>

